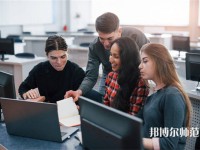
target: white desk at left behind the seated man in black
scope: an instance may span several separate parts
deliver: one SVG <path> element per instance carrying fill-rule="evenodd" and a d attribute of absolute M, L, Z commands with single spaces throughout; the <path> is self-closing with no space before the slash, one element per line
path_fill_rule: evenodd
<path fill-rule="evenodd" d="M 14 55 L 6 55 L 8 60 L 0 61 L 0 70 L 14 75 L 16 95 L 21 82 L 28 76 L 30 70 L 39 62 L 45 61 L 45 57 L 34 59 L 17 58 Z"/>

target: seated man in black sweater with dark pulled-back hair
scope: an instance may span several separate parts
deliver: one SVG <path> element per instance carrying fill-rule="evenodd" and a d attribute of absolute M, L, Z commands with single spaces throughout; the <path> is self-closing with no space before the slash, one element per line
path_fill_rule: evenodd
<path fill-rule="evenodd" d="M 60 36 L 50 36 L 45 52 L 48 61 L 36 65 L 21 83 L 23 99 L 55 103 L 68 90 L 77 90 L 85 73 L 77 64 L 67 60 L 67 44 Z"/>

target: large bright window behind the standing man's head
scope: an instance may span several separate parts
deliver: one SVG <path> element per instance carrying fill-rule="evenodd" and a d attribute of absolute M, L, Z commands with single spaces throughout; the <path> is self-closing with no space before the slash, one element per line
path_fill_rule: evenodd
<path fill-rule="evenodd" d="M 118 15 L 120 24 L 123 25 L 189 25 L 189 0 L 91 1 L 92 22 L 104 12 L 113 12 Z"/>

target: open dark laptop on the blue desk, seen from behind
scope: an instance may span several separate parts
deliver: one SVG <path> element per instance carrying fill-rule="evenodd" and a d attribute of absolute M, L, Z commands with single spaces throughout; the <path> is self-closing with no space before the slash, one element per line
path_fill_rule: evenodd
<path fill-rule="evenodd" d="M 78 131 L 59 125 L 57 105 L 0 98 L 9 134 L 40 140 L 62 142 Z"/>

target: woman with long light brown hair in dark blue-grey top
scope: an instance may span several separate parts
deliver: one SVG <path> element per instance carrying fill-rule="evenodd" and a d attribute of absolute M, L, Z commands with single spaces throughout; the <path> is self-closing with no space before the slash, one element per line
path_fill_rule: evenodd
<path fill-rule="evenodd" d="M 143 119 L 145 149 L 184 149 L 190 127 L 191 103 L 178 78 L 169 51 L 161 44 L 145 44 L 140 74 L 155 83 L 138 117 Z"/>

